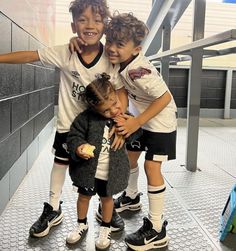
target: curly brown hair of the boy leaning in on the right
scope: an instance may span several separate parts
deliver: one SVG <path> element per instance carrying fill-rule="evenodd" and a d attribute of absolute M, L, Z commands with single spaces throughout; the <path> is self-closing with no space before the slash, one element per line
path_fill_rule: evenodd
<path fill-rule="evenodd" d="M 132 13 L 116 14 L 106 27 L 106 39 L 108 41 L 132 40 L 136 46 L 140 45 L 148 34 L 147 26 Z"/>

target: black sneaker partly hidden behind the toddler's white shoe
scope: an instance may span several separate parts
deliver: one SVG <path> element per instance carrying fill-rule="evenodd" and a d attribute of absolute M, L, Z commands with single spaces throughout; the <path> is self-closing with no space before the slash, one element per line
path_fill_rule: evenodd
<path fill-rule="evenodd" d="M 102 223 L 102 209 L 100 203 L 98 205 L 98 210 L 96 212 L 96 219 L 99 223 Z M 124 220 L 120 217 L 120 215 L 116 212 L 115 208 L 113 208 L 112 218 L 111 218 L 111 231 L 118 232 L 125 228 Z"/>

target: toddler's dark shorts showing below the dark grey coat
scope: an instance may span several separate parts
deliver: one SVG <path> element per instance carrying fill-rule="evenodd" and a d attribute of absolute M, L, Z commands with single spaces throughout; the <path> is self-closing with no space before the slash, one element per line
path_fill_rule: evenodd
<path fill-rule="evenodd" d="M 108 197 L 107 195 L 107 181 L 100 180 L 95 178 L 95 187 L 87 188 L 87 187 L 78 187 L 78 193 L 87 196 L 93 196 L 98 194 L 99 197 Z"/>

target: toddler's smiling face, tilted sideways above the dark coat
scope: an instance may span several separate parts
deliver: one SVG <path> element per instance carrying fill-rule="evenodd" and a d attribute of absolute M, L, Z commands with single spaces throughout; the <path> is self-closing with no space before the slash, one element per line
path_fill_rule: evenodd
<path fill-rule="evenodd" d="M 112 119 L 122 113 L 121 103 L 116 92 L 109 94 L 109 97 L 95 107 L 96 111 L 103 117 Z"/>

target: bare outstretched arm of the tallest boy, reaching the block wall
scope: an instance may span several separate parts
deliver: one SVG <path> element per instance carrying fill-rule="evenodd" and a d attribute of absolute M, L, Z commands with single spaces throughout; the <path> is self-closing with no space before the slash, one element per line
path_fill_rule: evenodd
<path fill-rule="evenodd" d="M 0 63 L 23 64 L 39 61 L 37 51 L 16 51 L 0 55 Z"/>

